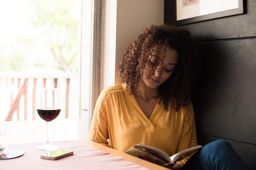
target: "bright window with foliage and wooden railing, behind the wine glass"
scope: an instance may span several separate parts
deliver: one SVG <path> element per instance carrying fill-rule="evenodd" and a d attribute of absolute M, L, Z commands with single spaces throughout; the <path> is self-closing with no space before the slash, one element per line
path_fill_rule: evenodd
<path fill-rule="evenodd" d="M 50 141 L 76 139 L 80 0 L 0 1 L 0 141 L 46 142 L 43 87 L 61 92 Z"/>

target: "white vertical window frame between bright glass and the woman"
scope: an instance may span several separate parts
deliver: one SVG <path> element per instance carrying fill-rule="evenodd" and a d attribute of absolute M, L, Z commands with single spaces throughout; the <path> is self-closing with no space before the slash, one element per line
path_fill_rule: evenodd
<path fill-rule="evenodd" d="M 101 0 L 82 0 L 79 70 L 78 139 L 87 139 L 92 115 L 100 94 Z M 89 97 L 88 97 L 89 96 Z"/>

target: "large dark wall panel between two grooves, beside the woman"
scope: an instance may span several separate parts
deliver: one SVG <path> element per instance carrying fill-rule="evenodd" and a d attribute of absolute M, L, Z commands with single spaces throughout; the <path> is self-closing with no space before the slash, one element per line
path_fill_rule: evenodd
<path fill-rule="evenodd" d="M 198 133 L 256 144 L 255 39 L 198 43 L 203 75 L 193 100 Z"/>

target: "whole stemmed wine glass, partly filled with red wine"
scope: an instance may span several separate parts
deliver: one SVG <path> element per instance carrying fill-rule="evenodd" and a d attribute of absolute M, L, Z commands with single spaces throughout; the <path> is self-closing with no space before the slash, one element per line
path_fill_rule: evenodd
<path fill-rule="evenodd" d="M 41 150 L 57 150 L 60 147 L 50 143 L 49 125 L 52 120 L 57 118 L 61 111 L 61 99 L 57 88 L 43 88 L 39 94 L 36 107 L 38 115 L 47 122 L 47 142 L 42 146 L 36 147 Z"/>

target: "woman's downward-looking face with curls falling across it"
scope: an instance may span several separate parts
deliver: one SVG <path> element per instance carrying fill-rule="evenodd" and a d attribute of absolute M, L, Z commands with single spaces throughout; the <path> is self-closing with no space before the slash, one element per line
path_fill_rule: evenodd
<path fill-rule="evenodd" d="M 164 49 L 164 47 L 162 47 L 159 48 L 157 52 L 155 48 L 152 48 L 151 50 L 151 55 L 149 55 L 146 66 L 144 67 L 142 77 L 144 83 L 151 88 L 156 88 L 162 85 L 171 76 L 178 61 L 178 53 L 175 49 L 169 47 Z M 164 52 L 164 50 L 166 51 Z M 159 59 L 155 56 L 157 54 Z M 155 63 L 157 65 L 153 66 L 152 68 L 149 63 Z M 149 75 L 149 72 L 151 72 L 150 77 L 147 76 Z"/>

